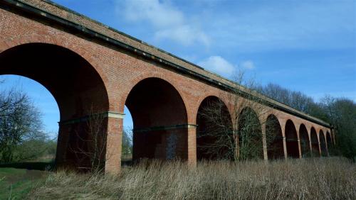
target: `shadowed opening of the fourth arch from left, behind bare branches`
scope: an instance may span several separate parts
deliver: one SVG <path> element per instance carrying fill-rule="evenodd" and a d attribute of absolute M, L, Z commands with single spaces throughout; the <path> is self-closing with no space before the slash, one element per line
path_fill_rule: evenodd
<path fill-rule="evenodd" d="M 246 159 L 263 158 L 263 138 L 258 115 L 250 107 L 239 113 L 239 157 Z"/>

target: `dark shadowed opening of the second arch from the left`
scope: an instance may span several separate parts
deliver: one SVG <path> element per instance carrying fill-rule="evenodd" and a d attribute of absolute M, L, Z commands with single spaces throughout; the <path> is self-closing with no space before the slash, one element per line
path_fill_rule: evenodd
<path fill-rule="evenodd" d="M 187 110 L 172 84 L 155 77 L 142 79 L 125 105 L 133 122 L 133 161 L 187 160 Z"/>

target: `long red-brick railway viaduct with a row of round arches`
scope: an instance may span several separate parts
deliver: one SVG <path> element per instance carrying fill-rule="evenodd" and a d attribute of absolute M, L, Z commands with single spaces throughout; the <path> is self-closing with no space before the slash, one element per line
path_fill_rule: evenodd
<path fill-rule="evenodd" d="M 42 84 L 60 110 L 56 164 L 83 167 L 75 144 L 88 135 L 88 116 L 102 116 L 105 172 L 120 171 L 124 106 L 134 123 L 134 159 L 179 158 L 195 165 L 201 104 L 239 88 L 179 57 L 159 50 L 51 1 L 0 1 L 0 74 L 17 74 Z M 306 152 L 328 155 L 335 143 L 330 124 L 269 99 L 271 111 L 258 118 L 278 125 L 280 157 Z M 229 106 L 230 105 L 230 106 Z M 261 128 L 266 133 L 264 125 Z M 96 131 L 96 130 L 95 130 Z M 82 143 L 80 143 L 80 140 Z M 276 155 L 263 145 L 265 160 Z"/>

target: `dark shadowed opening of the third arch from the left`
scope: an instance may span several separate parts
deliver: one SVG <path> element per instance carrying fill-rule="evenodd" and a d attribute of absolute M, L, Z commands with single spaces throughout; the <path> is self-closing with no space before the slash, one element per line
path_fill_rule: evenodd
<path fill-rule="evenodd" d="M 219 97 L 207 96 L 197 112 L 197 160 L 232 160 L 233 131 L 227 106 Z"/>

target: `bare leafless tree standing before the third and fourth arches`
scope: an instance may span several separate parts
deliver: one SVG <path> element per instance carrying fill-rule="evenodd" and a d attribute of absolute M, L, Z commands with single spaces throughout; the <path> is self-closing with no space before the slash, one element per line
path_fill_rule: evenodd
<path fill-rule="evenodd" d="M 207 102 L 199 112 L 197 148 L 214 159 L 248 160 L 263 157 L 263 138 L 272 143 L 276 135 L 262 135 L 266 113 L 253 79 L 246 81 L 244 72 L 235 77 L 236 87 L 221 94 L 221 100 Z M 244 87 L 243 87 L 244 86 Z M 224 104 L 226 102 L 226 104 Z M 271 127 L 271 126 L 268 126 Z"/>

